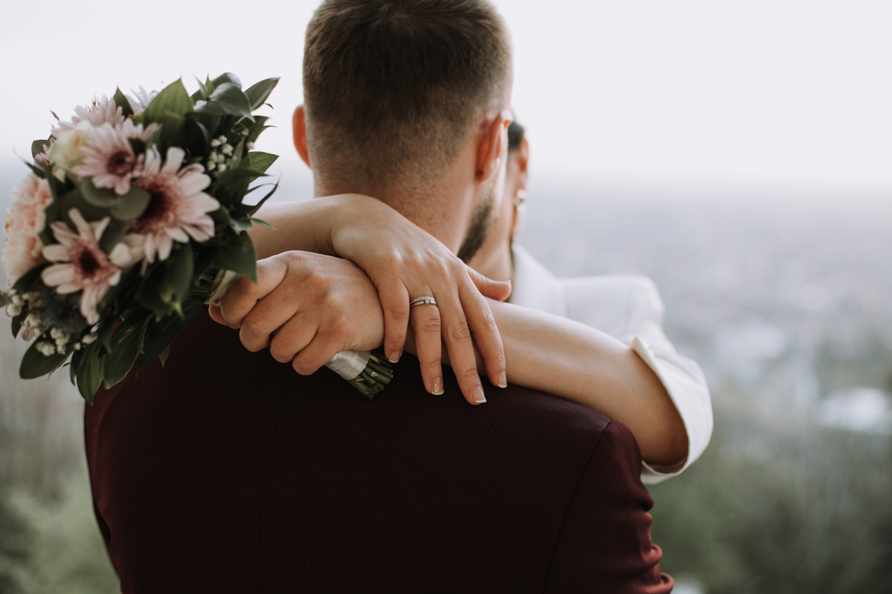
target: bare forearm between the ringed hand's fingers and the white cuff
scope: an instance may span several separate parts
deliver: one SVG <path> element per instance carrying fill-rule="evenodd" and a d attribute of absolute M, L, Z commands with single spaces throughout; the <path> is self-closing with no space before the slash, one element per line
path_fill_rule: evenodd
<path fill-rule="evenodd" d="M 622 422 L 648 464 L 688 454 L 684 423 L 663 383 L 619 340 L 576 321 L 490 302 L 499 326 L 508 382 L 585 404 Z"/>

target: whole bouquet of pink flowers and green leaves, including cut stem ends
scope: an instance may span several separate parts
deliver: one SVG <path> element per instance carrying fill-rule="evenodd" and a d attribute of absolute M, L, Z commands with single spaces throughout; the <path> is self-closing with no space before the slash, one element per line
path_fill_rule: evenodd
<path fill-rule="evenodd" d="M 254 151 L 268 118 L 252 111 L 277 85 L 243 91 L 227 73 L 181 80 L 160 93 L 118 89 L 31 147 L 31 173 L 12 190 L 3 264 L 10 284 L 0 305 L 12 335 L 34 340 L 21 378 L 38 378 L 70 358 L 70 377 L 93 402 L 136 364 L 167 359 L 171 341 L 205 302 L 239 275 L 257 280 L 248 230 L 277 185 L 254 204 L 245 196 L 277 156 Z M 329 367 L 363 394 L 390 381 L 367 353 L 338 354 Z"/>

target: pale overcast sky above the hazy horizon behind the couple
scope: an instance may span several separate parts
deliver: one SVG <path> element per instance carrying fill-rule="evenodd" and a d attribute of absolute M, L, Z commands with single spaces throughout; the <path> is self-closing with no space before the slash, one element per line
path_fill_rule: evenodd
<path fill-rule="evenodd" d="M 281 76 L 260 149 L 290 145 L 303 31 L 318 2 L 4 3 L 0 164 L 50 110 L 232 70 Z M 516 114 L 543 182 L 885 193 L 892 197 L 888 0 L 500 0 Z M 24 170 L 22 170 L 24 171 Z M 781 192 L 782 193 L 782 192 Z"/>

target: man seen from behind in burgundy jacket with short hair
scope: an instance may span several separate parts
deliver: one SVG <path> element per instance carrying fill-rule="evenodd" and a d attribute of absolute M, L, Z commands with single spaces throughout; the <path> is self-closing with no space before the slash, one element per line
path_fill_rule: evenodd
<path fill-rule="evenodd" d="M 484 0 L 328 0 L 307 32 L 295 142 L 318 195 L 387 195 L 473 251 L 510 89 Z M 481 407 L 429 395 L 409 355 L 395 371 L 369 402 L 328 370 L 248 352 L 205 313 L 164 367 L 97 394 L 87 460 L 122 590 L 672 589 L 628 429 L 521 387 L 486 385 Z"/>

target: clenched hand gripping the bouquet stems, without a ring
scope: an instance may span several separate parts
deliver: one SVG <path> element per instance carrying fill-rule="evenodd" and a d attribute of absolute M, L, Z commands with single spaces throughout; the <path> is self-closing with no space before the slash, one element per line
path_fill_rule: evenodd
<path fill-rule="evenodd" d="M 257 284 L 235 281 L 221 306 L 210 309 L 214 321 L 241 329 L 249 351 L 269 346 L 278 362 L 292 362 L 294 370 L 309 375 L 336 353 L 381 344 L 378 291 L 356 264 L 288 251 L 260 260 L 257 268 Z"/>

